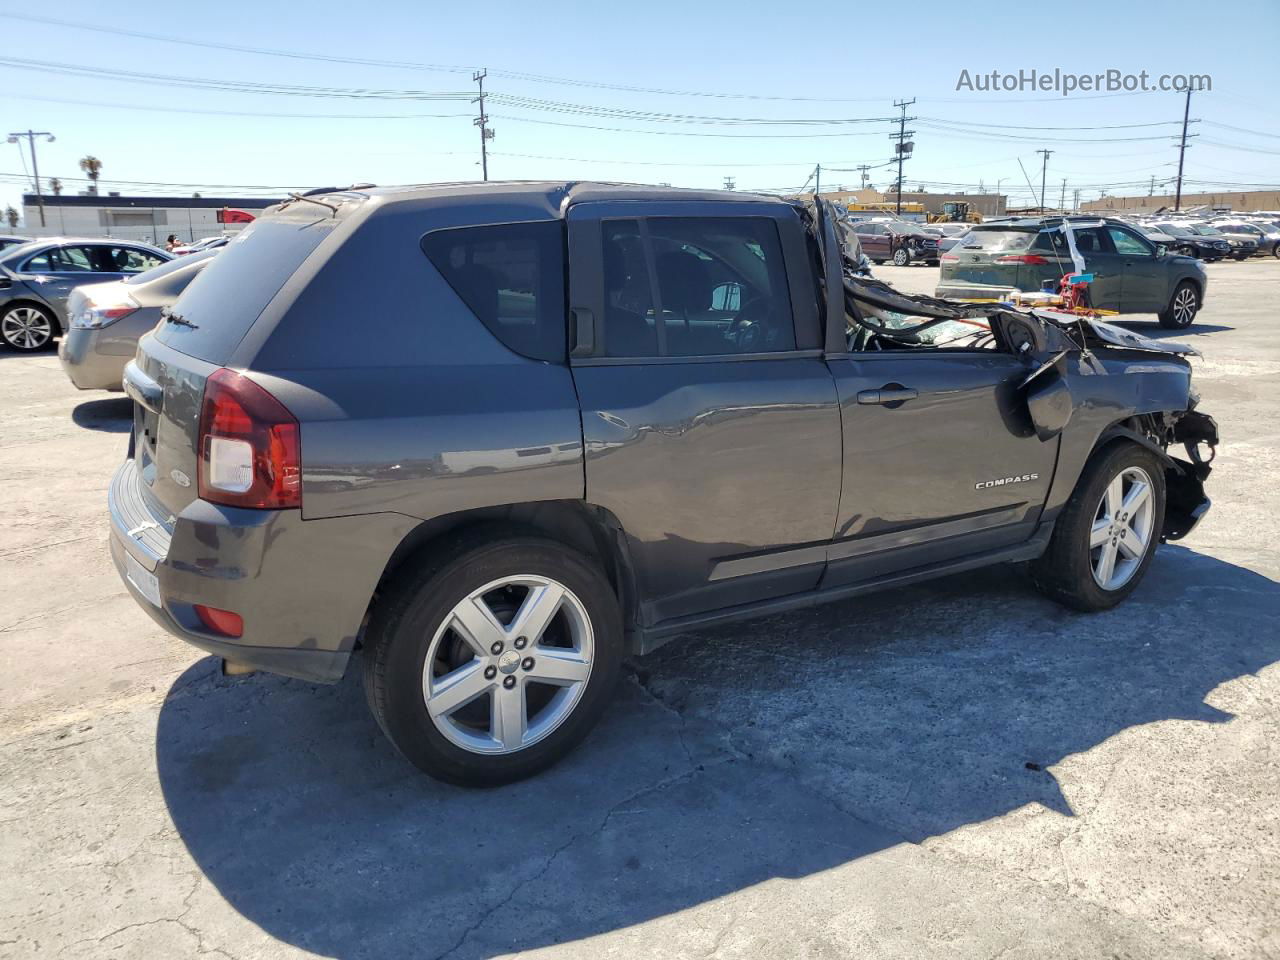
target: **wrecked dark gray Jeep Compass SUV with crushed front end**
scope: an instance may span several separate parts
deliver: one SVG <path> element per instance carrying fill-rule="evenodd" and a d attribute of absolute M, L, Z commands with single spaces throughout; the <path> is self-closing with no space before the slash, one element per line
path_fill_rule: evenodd
<path fill-rule="evenodd" d="M 1208 507 L 1190 349 L 856 264 L 813 197 L 296 197 L 127 366 L 111 556 L 237 672 L 361 649 L 387 736 L 467 785 L 563 756 L 625 655 L 710 625 L 998 562 L 1124 599 Z"/>

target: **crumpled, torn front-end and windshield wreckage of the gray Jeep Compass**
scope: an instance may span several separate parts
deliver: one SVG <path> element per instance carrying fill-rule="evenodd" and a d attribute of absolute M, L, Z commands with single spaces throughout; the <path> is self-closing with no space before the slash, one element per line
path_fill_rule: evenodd
<path fill-rule="evenodd" d="M 1125 436 L 1152 449 L 1166 466 L 1162 536 L 1185 536 L 1208 509 L 1203 483 L 1219 435 L 1213 419 L 1196 410 L 1187 360 L 1201 356 L 1194 347 L 1143 337 L 1082 312 L 901 293 L 870 275 L 845 211 L 812 196 L 792 202 L 809 227 L 818 275 L 827 280 L 828 328 L 840 325 L 841 315 L 844 320 L 844 343 L 828 329 L 828 351 L 947 346 L 1012 353 L 1027 369 L 1018 396 L 1042 442 L 1060 436 L 1083 411 L 1093 416 L 1091 408 L 1105 406 L 1116 420 L 1100 428 L 1094 444 Z M 1069 228 L 1064 232 L 1083 273 L 1074 237 Z M 1074 429 L 1079 434 L 1094 425 Z M 1169 456 L 1172 444 L 1181 444 L 1188 460 Z"/>

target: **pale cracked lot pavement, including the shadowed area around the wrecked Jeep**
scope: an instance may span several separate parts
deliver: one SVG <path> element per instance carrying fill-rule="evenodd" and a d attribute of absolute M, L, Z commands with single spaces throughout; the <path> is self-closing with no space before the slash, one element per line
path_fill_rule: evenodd
<path fill-rule="evenodd" d="M 1280 957 L 1280 261 L 1208 271 L 1215 506 L 1128 603 L 1000 567 L 690 636 L 490 791 L 357 671 L 160 631 L 106 553 L 128 402 L 0 353 L 0 956 Z"/>

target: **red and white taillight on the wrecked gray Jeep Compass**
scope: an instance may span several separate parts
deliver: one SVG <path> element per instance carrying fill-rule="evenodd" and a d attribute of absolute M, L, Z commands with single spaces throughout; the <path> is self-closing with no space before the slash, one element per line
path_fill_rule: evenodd
<path fill-rule="evenodd" d="M 200 497 L 228 507 L 302 506 L 298 421 L 270 393 L 225 367 L 205 381 Z"/>

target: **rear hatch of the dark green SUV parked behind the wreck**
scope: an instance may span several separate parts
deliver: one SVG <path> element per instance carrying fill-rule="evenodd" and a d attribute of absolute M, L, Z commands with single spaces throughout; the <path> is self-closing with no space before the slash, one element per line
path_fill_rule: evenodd
<path fill-rule="evenodd" d="M 942 259 L 941 280 L 1038 291 L 1043 279 L 1071 271 L 1065 251 L 1039 227 L 974 227 Z"/>

